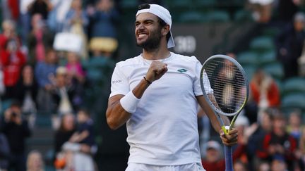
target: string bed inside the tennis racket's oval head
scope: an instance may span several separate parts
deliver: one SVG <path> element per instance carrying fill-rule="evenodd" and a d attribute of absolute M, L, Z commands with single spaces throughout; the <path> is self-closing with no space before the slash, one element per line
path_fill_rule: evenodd
<path fill-rule="evenodd" d="M 225 113 L 239 110 L 246 99 L 243 92 L 246 80 L 239 68 L 231 61 L 218 59 L 210 61 L 204 69 L 217 101 L 215 107 Z"/>

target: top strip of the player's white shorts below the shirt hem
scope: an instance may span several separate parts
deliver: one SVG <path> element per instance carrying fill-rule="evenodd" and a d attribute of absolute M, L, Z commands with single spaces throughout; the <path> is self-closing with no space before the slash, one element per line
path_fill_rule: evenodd
<path fill-rule="evenodd" d="M 205 171 L 201 163 L 186 165 L 147 165 L 141 163 L 129 163 L 125 171 Z"/>

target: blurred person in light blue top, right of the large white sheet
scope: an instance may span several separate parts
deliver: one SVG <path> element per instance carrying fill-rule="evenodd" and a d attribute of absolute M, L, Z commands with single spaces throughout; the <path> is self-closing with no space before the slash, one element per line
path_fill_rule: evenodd
<path fill-rule="evenodd" d="M 88 17 L 83 11 L 82 1 L 73 0 L 71 8 L 66 14 L 66 29 L 68 32 L 78 34 L 81 37 L 83 46 L 80 49 L 80 56 L 84 59 L 88 58 L 87 49 L 87 26 L 89 24 Z"/>

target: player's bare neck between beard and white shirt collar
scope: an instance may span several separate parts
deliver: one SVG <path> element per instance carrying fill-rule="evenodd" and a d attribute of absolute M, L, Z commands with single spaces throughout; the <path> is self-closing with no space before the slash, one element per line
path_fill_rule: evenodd
<path fill-rule="evenodd" d="M 155 49 L 153 51 L 146 51 L 143 49 L 143 58 L 148 60 L 158 60 L 158 59 L 165 59 L 169 57 L 170 51 L 165 48 Z"/>

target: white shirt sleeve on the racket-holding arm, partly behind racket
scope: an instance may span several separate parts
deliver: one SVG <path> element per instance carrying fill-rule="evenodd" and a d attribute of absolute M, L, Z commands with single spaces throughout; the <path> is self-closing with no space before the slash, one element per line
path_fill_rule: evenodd
<path fill-rule="evenodd" d="M 195 70 L 196 79 L 193 84 L 193 89 L 196 96 L 203 95 L 203 91 L 201 89 L 201 68 L 202 68 L 201 63 L 197 61 L 196 70 Z M 213 94 L 213 89 L 212 87 L 210 87 L 210 81 L 208 80 L 208 75 L 206 74 L 206 72 L 203 72 L 202 79 L 203 79 L 205 94 Z"/>

